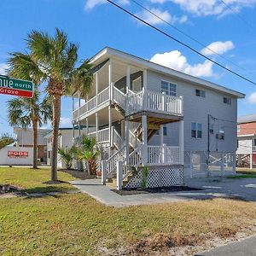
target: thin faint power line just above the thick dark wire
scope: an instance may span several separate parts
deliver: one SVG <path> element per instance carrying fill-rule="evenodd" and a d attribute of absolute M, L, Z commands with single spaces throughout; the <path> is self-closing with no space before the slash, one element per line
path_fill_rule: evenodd
<path fill-rule="evenodd" d="M 136 0 L 131 0 L 131 2 L 136 3 L 139 7 L 141 7 L 141 8 L 144 9 L 144 10 L 146 10 L 149 14 L 154 15 L 154 17 L 158 18 L 159 20 L 162 20 L 162 21 L 165 22 L 168 26 L 172 26 L 173 29 L 175 29 L 177 32 L 182 33 L 185 37 L 189 38 L 190 40 L 194 41 L 194 42 L 197 43 L 197 44 L 200 44 L 201 47 L 204 47 L 204 48 L 210 50 L 214 55 L 218 55 L 219 57 L 221 57 L 221 58 L 224 59 L 225 61 L 229 61 L 229 62 L 230 62 L 231 64 L 233 64 L 234 66 L 236 66 L 236 67 L 240 68 L 241 70 L 247 72 L 247 70 L 246 70 L 245 68 L 240 67 L 240 66 L 237 65 L 234 61 L 230 61 L 230 59 L 224 57 L 223 55 L 218 54 L 218 52 L 216 52 L 215 50 L 209 48 L 206 44 L 202 44 L 199 40 L 197 40 L 197 39 L 195 39 L 195 38 L 189 36 L 188 33 L 183 32 L 181 29 L 177 28 L 177 26 L 174 26 L 174 25 L 172 25 L 172 23 L 170 23 L 170 22 L 168 22 L 167 20 L 161 18 L 160 15 L 156 15 L 153 11 L 151 11 L 151 10 L 148 9 L 148 8 L 146 8 L 146 7 L 143 6 L 141 3 L 138 3 Z"/>

